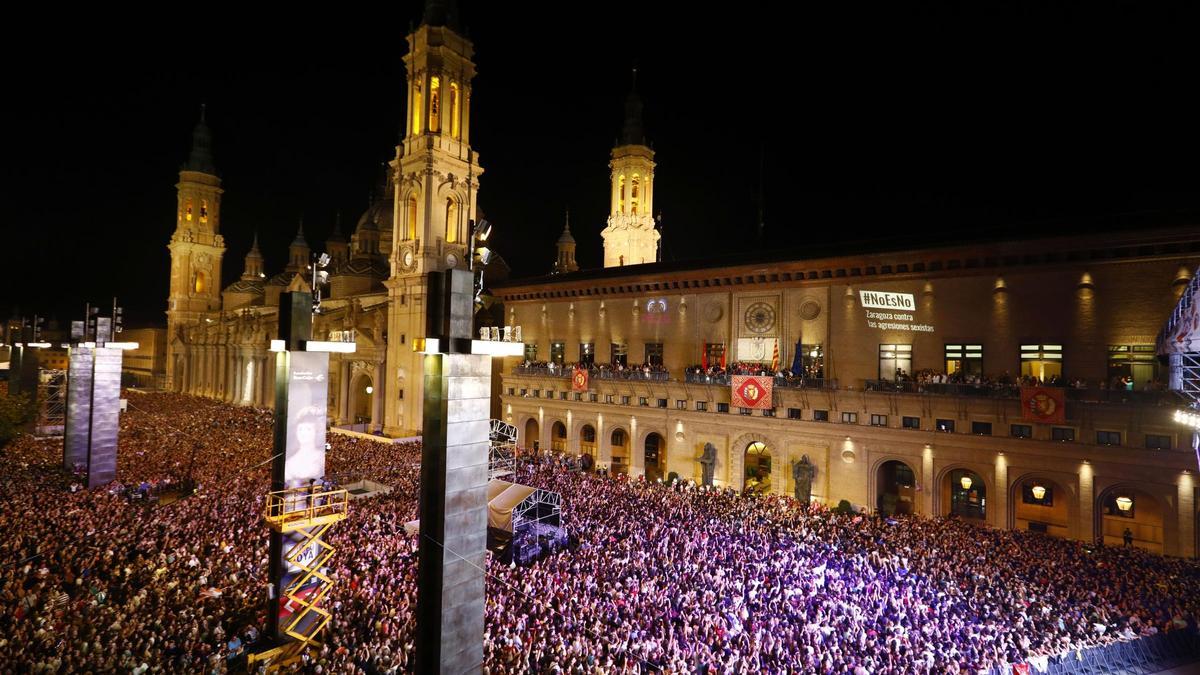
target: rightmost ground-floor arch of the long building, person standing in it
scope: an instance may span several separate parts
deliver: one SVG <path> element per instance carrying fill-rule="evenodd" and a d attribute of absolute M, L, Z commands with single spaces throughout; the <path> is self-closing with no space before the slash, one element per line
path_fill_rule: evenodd
<path fill-rule="evenodd" d="M 1121 509 L 1112 503 L 1122 496 L 1134 500 L 1133 516 L 1127 522 L 1116 516 Z M 1133 482 L 1109 485 L 1096 495 L 1092 516 L 1096 520 L 1096 538 L 1105 545 L 1122 545 L 1123 528 L 1128 527 L 1133 532 L 1134 546 L 1159 554 L 1174 550 L 1175 510 L 1170 500 L 1151 486 Z"/>

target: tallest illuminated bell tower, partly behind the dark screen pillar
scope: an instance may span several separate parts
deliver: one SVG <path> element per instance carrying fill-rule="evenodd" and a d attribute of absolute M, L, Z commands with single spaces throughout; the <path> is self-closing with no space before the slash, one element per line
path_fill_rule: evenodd
<path fill-rule="evenodd" d="M 412 339 L 425 335 L 426 275 L 466 268 L 470 220 L 479 193 L 479 155 L 470 149 L 474 47 L 460 34 L 452 0 L 426 0 L 421 25 L 408 36 L 404 66 L 408 109 L 404 137 L 390 163 L 395 184 L 391 277 L 385 282 L 388 434 L 421 426 L 421 354 Z"/>

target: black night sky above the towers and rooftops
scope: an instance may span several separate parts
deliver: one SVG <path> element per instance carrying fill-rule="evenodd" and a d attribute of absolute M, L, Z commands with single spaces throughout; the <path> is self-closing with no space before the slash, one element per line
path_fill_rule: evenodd
<path fill-rule="evenodd" d="M 464 2 L 480 207 L 514 276 L 550 270 L 568 208 L 581 265 L 599 265 L 635 61 L 671 259 L 1200 213 L 1193 17 L 914 5 L 594 4 L 581 16 L 577 4 Z M 115 294 L 128 323 L 166 322 L 174 184 L 202 102 L 226 190 L 222 285 L 256 229 L 269 273 L 301 216 L 310 243 L 337 211 L 349 234 L 395 153 L 403 37 L 421 7 L 292 8 L 214 7 L 157 31 L 73 14 L 54 18 L 53 36 L 30 34 L 35 50 L 8 41 L 0 313 L 66 319 Z"/>

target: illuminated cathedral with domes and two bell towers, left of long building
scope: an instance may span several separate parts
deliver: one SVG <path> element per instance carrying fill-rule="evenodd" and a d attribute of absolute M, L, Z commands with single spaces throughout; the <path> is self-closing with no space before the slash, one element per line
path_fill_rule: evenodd
<path fill-rule="evenodd" d="M 316 339 L 353 331 L 353 354 L 330 364 L 330 419 L 392 436 L 420 431 L 421 364 L 410 339 L 425 333 L 428 271 L 460 268 L 470 255 L 479 155 L 470 149 L 470 41 L 455 16 L 431 5 L 408 36 L 404 137 L 377 198 L 349 241 L 341 227 L 325 243 L 329 288 Z M 277 274 L 264 269 L 257 237 L 241 276 L 221 287 L 226 252 L 221 179 L 203 115 L 181 167 L 167 306 L 167 387 L 239 405 L 274 405 L 278 298 L 311 257 L 301 223 Z"/>

